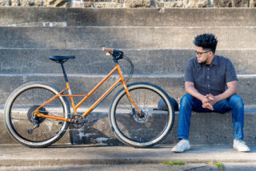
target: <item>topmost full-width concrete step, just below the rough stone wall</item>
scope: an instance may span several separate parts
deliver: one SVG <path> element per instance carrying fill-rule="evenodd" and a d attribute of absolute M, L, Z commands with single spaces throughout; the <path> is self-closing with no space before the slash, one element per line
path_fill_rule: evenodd
<path fill-rule="evenodd" d="M 18 6 L 0 7 L 0 26 L 255 26 L 255 12 L 254 8 L 31 9 Z"/>

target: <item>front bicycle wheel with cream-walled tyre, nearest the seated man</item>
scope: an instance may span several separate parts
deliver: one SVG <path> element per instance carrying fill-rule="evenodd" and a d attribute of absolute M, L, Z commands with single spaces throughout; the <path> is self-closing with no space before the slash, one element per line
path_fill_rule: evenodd
<path fill-rule="evenodd" d="M 166 138 L 174 124 L 174 105 L 169 96 L 157 85 L 136 82 L 128 85 L 131 104 L 125 89 L 120 89 L 110 105 L 110 125 L 115 135 L 126 145 L 150 147 Z M 159 109 L 162 101 L 166 109 Z"/>

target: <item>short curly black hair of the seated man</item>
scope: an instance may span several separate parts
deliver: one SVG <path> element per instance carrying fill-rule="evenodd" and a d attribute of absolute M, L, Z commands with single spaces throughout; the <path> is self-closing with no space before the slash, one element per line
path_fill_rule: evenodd
<path fill-rule="evenodd" d="M 195 46 L 210 49 L 210 51 L 215 53 L 218 40 L 214 34 L 199 34 L 194 38 L 193 43 Z"/>

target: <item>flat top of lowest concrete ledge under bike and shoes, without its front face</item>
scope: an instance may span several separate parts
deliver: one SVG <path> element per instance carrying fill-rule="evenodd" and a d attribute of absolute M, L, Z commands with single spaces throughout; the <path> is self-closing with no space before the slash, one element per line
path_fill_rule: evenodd
<path fill-rule="evenodd" d="M 232 145 L 192 145 L 185 153 L 173 153 L 172 147 L 156 145 L 136 149 L 110 145 L 51 145 L 30 149 L 22 145 L 0 145 L 0 166 L 137 165 L 161 164 L 162 161 L 256 163 L 256 146 L 250 146 L 250 153 L 238 152 L 232 149 Z"/>

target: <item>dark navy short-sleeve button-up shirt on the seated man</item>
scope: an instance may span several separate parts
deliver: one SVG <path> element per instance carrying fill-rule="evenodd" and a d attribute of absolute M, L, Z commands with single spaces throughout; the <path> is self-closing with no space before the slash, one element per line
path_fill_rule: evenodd
<path fill-rule="evenodd" d="M 230 59 L 214 56 L 210 66 L 198 63 L 197 57 L 190 58 L 186 65 L 185 82 L 194 82 L 194 88 L 199 93 L 214 96 L 226 90 L 226 83 L 237 81 L 237 74 Z"/>

